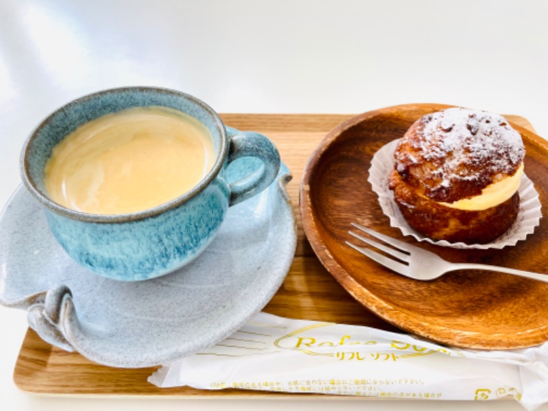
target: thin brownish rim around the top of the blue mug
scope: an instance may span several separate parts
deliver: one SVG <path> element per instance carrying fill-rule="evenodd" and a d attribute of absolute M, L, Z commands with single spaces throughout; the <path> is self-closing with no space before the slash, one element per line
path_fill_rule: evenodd
<path fill-rule="evenodd" d="M 192 101 L 193 103 L 196 103 L 199 105 L 203 110 L 205 110 L 213 119 L 214 126 L 219 129 L 219 132 L 221 134 L 221 144 L 219 147 L 219 151 L 216 153 L 215 156 L 215 162 L 208 172 L 208 174 L 203 177 L 194 187 L 192 187 L 187 192 L 184 192 L 182 195 L 179 195 L 178 197 L 175 197 L 174 199 L 171 199 L 170 201 L 166 201 L 165 203 L 160 204 L 159 206 L 155 206 L 153 208 L 147 208 L 145 210 L 139 210 L 136 212 L 129 212 L 129 213 L 121 213 L 121 214 L 92 214 L 88 212 L 82 212 L 78 210 L 73 210 L 71 208 L 67 208 L 64 206 L 61 206 L 59 203 L 56 203 L 53 201 L 49 195 L 47 195 L 47 192 L 44 192 L 43 190 L 40 190 L 36 186 L 36 182 L 33 181 L 33 179 L 30 177 L 29 173 L 29 161 L 28 161 L 28 153 L 30 146 L 32 144 L 32 141 L 36 138 L 36 135 L 38 132 L 40 132 L 40 129 L 45 127 L 47 123 L 53 120 L 53 117 L 58 115 L 62 110 L 65 108 L 70 107 L 71 105 L 77 105 L 84 103 L 90 99 L 93 99 L 97 96 L 101 95 L 108 95 L 111 93 L 118 93 L 118 92 L 125 92 L 125 91 L 149 91 L 149 92 L 160 92 L 160 93 L 167 93 L 169 95 L 177 96 L 177 97 L 183 97 L 185 99 L 188 99 Z M 128 107 L 131 108 L 131 107 Z M 176 110 L 176 109 L 175 109 Z M 181 111 L 181 110 L 178 110 Z M 63 138 L 65 138 L 64 136 Z M 169 210 L 173 210 L 173 208 L 177 208 L 181 206 L 183 203 L 186 203 L 193 197 L 196 197 L 201 191 L 203 191 L 204 188 L 206 188 L 219 174 L 221 171 L 223 164 L 225 162 L 225 159 L 227 158 L 228 154 L 228 141 L 227 141 L 227 131 L 225 128 L 225 124 L 221 120 L 221 117 L 219 114 L 213 110 L 210 105 L 204 103 L 197 97 L 194 97 L 192 95 L 189 95 L 186 92 L 173 90 L 171 88 L 162 88 L 162 87 L 149 87 L 149 86 L 126 86 L 126 87 L 117 87 L 117 88 L 108 88 L 105 90 L 99 90 L 97 92 L 92 92 L 87 95 L 83 95 L 82 97 L 78 97 L 77 99 L 73 99 L 69 101 L 69 103 L 65 103 L 61 105 L 56 110 L 53 110 L 48 116 L 45 117 L 38 125 L 32 130 L 32 132 L 27 137 L 27 140 L 25 140 L 25 143 L 23 145 L 23 149 L 21 151 L 21 158 L 20 158 L 20 168 L 21 168 L 21 176 L 23 179 L 23 184 L 26 186 L 27 190 L 31 192 L 31 194 L 40 201 L 44 206 L 46 206 L 49 210 L 52 212 L 55 212 L 56 214 L 60 214 L 62 216 L 66 216 L 69 219 L 73 220 L 79 220 L 79 221 L 87 221 L 90 223 L 122 223 L 125 221 L 139 221 L 142 219 L 148 219 L 153 216 L 157 216 L 159 214 L 163 214 L 164 212 L 167 212 Z"/>

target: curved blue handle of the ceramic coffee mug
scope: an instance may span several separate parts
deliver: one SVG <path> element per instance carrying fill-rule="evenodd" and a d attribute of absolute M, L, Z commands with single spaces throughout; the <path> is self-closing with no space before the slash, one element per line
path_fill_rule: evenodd
<path fill-rule="evenodd" d="M 256 132 L 240 132 L 226 127 L 229 140 L 228 164 L 242 157 L 258 158 L 262 166 L 236 182 L 229 184 L 229 206 L 241 203 L 259 194 L 276 178 L 279 171 L 279 153 L 271 140 Z"/>

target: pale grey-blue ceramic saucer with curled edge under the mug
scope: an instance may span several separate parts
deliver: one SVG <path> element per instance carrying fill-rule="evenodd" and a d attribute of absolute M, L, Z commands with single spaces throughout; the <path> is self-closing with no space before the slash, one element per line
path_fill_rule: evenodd
<path fill-rule="evenodd" d="M 255 166 L 236 161 L 227 179 Z M 73 262 L 20 186 L 0 216 L 0 303 L 27 310 L 29 326 L 48 343 L 99 364 L 140 368 L 196 353 L 247 323 L 286 277 L 297 243 L 290 179 L 282 164 L 269 188 L 229 208 L 197 260 L 142 282 L 107 279 Z"/>

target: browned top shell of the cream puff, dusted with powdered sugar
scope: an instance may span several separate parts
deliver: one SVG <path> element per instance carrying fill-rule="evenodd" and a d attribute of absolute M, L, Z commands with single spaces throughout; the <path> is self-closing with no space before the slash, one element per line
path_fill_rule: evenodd
<path fill-rule="evenodd" d="M 525 148 L 503 116 L 449 108 L 416 121 L 395 155 L 397 171 L 408 184 L 423 186 L 434 201 L 451 203 L 514 175 Z"/>

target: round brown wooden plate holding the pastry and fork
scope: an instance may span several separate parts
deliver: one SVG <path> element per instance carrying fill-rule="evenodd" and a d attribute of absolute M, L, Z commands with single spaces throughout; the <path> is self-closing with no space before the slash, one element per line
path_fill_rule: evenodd
<path fill-rule="evenodd" d="M 301 182 L 303 227 L 325 268 L 360 303 L 389 323 L 439 343 L 473 349 L 516 349 L 548 340 L 548 284 L 502 273 L 455 271 L 431 282 L 403 277 L 345 245 L 356 222 L 414 243 L 452 262 L 481 262 L 548 273 L 548 222 L 514 247 L 458 250 L 416 242 L 390 227 L 367 182 L 373 154 L 401 138 L 416 119 L 449 107 L 399 105 L 353 117 L 330 132 Z M 548 144 L 517 125 L 525 173 L 547 216 Z"/>

